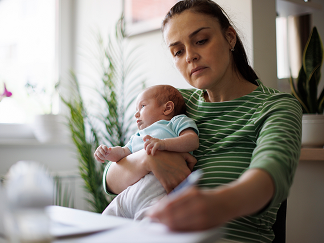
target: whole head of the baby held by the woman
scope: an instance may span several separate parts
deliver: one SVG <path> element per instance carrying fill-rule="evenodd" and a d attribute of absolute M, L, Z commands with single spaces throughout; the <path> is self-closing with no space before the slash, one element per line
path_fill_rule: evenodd
<path fill-rule="evenodd" d="M 155 85 L 142 91 L 136 100 L 136 121 L 139 130 L 160 120 L 186 113 L 185 100 L 171 85 Z"/>

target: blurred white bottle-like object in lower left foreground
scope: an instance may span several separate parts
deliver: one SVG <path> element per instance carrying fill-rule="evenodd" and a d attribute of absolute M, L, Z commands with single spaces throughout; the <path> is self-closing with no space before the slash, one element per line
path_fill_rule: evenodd
<path fill-rule="evenodd" d="M 5 235 L 11 243 L 51 242 L 44 208 L 53 203 L 54 182 L 44 166 L 20 161 L 12 165 L 5 185 Z"/>

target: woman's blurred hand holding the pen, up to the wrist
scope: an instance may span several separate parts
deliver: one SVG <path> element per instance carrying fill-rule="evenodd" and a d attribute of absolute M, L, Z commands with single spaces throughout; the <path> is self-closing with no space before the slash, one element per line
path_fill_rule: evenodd
<path fill-rule="evenodd" d="M 216 190 L 204 191 L 192 187 L 173 200 L 172 197 L 165 197 L 148 212 L 148 216 L 171 230 L 204 230 L 228 220 L 224 206 Z"/>

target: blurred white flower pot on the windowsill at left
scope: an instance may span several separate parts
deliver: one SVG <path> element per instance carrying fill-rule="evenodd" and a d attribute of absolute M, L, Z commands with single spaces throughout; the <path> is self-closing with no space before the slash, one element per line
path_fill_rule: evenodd
<path fill-rule="evenodd" d="M 33 133 L 41 143 L 69 143 L 70 133 L 62 115 L 36 115 L 33 122 Z"/>

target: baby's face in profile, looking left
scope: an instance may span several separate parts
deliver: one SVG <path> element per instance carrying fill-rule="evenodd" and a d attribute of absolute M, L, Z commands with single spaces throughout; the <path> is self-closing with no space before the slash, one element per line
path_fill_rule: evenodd
<path fill-rule="evenodd" d="M 135 118 L 139 130 L 147 128 L 153 123 L 165 119 L 164 107 L 153 98 L 152 90 L 144 90 L 136 100 Z"/>

